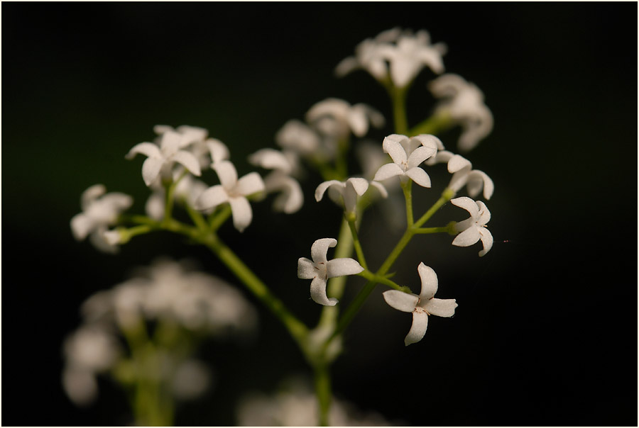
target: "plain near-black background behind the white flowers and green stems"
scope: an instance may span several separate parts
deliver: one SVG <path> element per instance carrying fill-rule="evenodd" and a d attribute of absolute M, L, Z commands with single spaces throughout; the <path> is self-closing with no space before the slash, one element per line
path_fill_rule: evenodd
<path fill-rule="evenodd" d="M 337 395 L 415 425 L 636 425 L 636 14 L 633 2 L 4 2 L 3 424 L 129 423 L 108 382 L 84 410 L 62 393 L 60 344 L 80 322 L 78 305 L 159 254 L 191 255 L 232 279 L 170 235 L 133 240 L 115 257 L 75 242 L 69 220 L 85 188 L 129 193 L 139 212 L 141 160 L 124 154 L 158 123 L 207 128 L 245 174 L 247 154 L 275 147 L 287 120 L 329 96 L 390 119 L 371 77 L 335 79 L 332 69 L 364 38 L 402 26 L 447 43 L 447 71 L 486 94 L 495 129 L 468 157 L 496 184 L 488 203 L 496 244 L 481 259 L 449 237 L 411 245 L 398 281 L 417 291 L 424 261 L 439 275 L 438 296 L 457 298 L 457 313 L 431 317 L 425 339 L 405 348 L 410 316 L 377 290 L 334 366 Z M 432 106 L 429 73 L 410 95 L 411 124 Z M 450 147 L 456 137 L 442 135 Z M 316 184 L 305 184 L 308 201 Z M 314 322 L 319 308 L 295 263 L 313 240 L 337 233 L 339 215 L 328 202 L 291 217 L 267 216 L 269 205 L 256 205 L 243 235 L 229 225 L 222 236 Z M 442 221 L 452 216 L 463 218 L 444 207 Z M 362 233 L 365 247 L 392 245 L 379 238 L 375 210 Z M 306 373 L 265 311 L 254 344 L 212 343 L 203 354 L 216 388 L 181 407 L 177 424 L 234 424 L 243 391 Z"/>

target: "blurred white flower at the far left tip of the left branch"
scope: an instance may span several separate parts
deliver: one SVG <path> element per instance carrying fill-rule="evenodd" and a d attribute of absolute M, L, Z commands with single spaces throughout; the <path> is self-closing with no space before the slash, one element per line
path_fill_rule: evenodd
<path fill-rule="evenodd" d="M 106 192 L 102 184 L 95 184 L 82 193 L 82 213 L 71 219 L 71 231 L 76 240 L 82 241 L 90 235 L 89 240 L 98 249 L 115 252 L 117 247 L 109 244 L 104 233 L 116 223 L 118 215 L 133 204 L 133 198 L 124 193 Z"/>

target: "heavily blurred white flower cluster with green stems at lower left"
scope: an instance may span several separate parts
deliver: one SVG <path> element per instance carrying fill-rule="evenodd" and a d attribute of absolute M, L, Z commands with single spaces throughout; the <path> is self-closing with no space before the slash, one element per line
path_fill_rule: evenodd
<path fill-rule="evenodd" d="M 189 265 L 158 259 L 82 303 L 82 325 L 63 347 L 62 385 L 72 401 L 92 402 L 100 373 L 125 384 L 149 376 L 182 400 L 209 387 L 210 369 L 193 356 L 197 338 L 250 337 L 257 315 L 236 288 Z M 153 352 L 141 359 L 141 347 Z"/>

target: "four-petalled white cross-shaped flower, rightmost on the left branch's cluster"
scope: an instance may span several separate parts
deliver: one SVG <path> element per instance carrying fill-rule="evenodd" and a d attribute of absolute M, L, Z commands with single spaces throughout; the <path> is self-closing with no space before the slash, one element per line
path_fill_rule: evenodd
<path fill-rule="evenodd" d="M 237 171 L 231 162 L 223 160 L 212 164 L 220 184 L 207 188 L 197 199 L 197 210 L 209 210 L 228 202 L 233 213 L 233 225 L 242 232 L 253 220 L 253 210 L 246 196 L 264 190 L 264 181 L 257 172 L 237 178 Z"/>

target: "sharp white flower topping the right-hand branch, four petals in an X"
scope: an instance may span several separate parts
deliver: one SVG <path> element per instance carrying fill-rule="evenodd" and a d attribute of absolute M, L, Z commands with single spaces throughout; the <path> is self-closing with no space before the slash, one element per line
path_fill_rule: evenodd
<path fill-rule="evenodd" d="M 405 135 L 388 135 L 384 138 L 383 149 L 391 155 L 393 163 L 378 169 L 373 182 L 400 176 L 403 182 L 412 179 L 422 187 L 430 187 L 430 176 L 419 165 L 437 153 L 435 140 L 437 137 L 432 135 L 417 135 L 410 139 Z"/>

